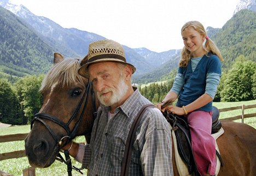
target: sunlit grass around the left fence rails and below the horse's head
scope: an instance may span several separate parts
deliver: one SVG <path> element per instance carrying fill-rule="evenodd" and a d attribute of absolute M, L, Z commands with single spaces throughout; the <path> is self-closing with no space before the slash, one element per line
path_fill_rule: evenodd
<path fill-rule="evenodd" d="M 30 132 L 30 125 L 23 125 L 23 126 L 10 126 L 8 128 L 0 128 L 0 136 L 7 135 L 7 134 L 18 134 L 18 133 L 28 133 Z M 84 142 L 84 137 L 75 138 L 76 142 Z M 0 153 L 4 152 L 11 152 L 17 150 L 24 150 L 25 149 L 24 140 L 15 141 L 15 142 L 5 142 L 0 143 Z M 64 155 L 62 155 L 65 158 Z M 72 165 L 75 167 L 80 168 L 81 164 L 75 161 L 72 158 Z M 0 161 L 0 170 L 7 172 L 11 175 L 23 175 L 23 169 L 30 167 L 28 163 L 27 157 L 21 157 L 19 159 L 10 159 L 10 160 L 3 160 Z M 86 170 L 82 171 L 86 175 Z M 53 165 L 48 168 L 36 168 L 36 175 L 37 176 L 45 176 L 45 175 L 67 175 L 67 166 L 60 161 L 55 161 Z M 77 171 L 72 171 L 72 175 L 81 175 Z"/>

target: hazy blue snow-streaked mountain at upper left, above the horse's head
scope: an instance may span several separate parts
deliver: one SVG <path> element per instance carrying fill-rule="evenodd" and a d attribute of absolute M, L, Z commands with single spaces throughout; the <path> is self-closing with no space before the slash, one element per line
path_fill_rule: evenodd
<path fill-rule="evenodd" d="M 61 50 L 56 50 L 56 52 L 61 52 L 62 49 L 69 50 L 72 55 L 66 55 L 61 52 L 67 57 L 74 57 L 76 55 L 84 57 L 88 53 L 89 43 L 105 39 L 97 34 L 80 31 L 75 28 L 63 28 L 46 17 L 34 15 L 22 4 L 12 4 L 8 0 L 1 0 L 0 2 L 2 7 L 19 16 L 21 19 L 26 21 L 34 31 L 44 36 L 46 38 L 45 42 L 48 43 L 49 41 L 48 44 L 50 46 L 54 46 L 56 44 L 61 46 Z"/>

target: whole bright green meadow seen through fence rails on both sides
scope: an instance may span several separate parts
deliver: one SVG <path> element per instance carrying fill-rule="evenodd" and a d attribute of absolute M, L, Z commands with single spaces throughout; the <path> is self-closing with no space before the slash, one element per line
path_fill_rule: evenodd
<path fill-rule="evenodd" d="M 256 104 L 256 100 L 254 101 L 247 101 L 247 102 L 218 102 L 213 103 L 214 106 L 221 108 L 228 108 L 228 107 L 236 107 L 238 105 L 249 105 L 249 104 Z M 255 113 L 256 109 L 246 109 L 245 114 L 249 113 Z M 223 112 L 220 113 L 220 119 L 229 118 L 231 116 L 241 115 L 241 109 L 240 110 L 232 110 L 230 112 Z M 237 122 L 241 122 L 241 120 L 236 120 Z M 248 118 L 245 119 L 245 123 L 248 125 L 253 126 L 256 128 L 256 118 Z M 0 128 L 0 136 L 6 135 L 6 134 L 17 134 L 17 133 L 28 133 L 30 132 L 30 125 L 25 126 L 11 126 L 8 128 Z M 84 142 L 84 137 L 78 137 L 75 139 L 77 142 Z M 16 151 L 16 150 L 24 150 L 24 141 L 17 141 L 17 142 L 6 142 L 6 143 L 0 143 L 0 153 L 4 152 L 10 152 L 10 151 Z M 80 167 L 80 163 L 77 161 L 72 160 L 72 165 L 76 167 Z M 0 161 L 0 170 L 7 172 L 12 175 L 22 175 L 22 170 L 25 168 L 30 167 L 27 157 L 22 157 L 19 159 L 10 159 L 10 160 L 4 160 Z M 48 168 L 36 168 L 36 175 L 37 176 L 45 176 L 45 175 L 53 175 L 53 176 L 59 176 L 59 175 L 67 175 L 66 165 L 55 161 L 53 165 L 51 165 Z M 84 170 L 84 174 L 86 173 L 86 170 Z M 81 175 L 80 173 L 73 171 L 72 175 Z"/>

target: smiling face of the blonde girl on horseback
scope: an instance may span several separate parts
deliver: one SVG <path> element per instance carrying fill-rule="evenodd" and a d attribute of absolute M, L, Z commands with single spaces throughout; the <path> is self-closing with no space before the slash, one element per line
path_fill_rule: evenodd
<path fill-rule="evenodd" d="M 201 57 L 205 55 L 205 50 L 202 47 L 203 39 L 205 36 L 202 36 L 197 32 L 194 27 L 187 27 L 182 32 L 183 43 L 185 47 L 192 53 L 193 57 Z"/>

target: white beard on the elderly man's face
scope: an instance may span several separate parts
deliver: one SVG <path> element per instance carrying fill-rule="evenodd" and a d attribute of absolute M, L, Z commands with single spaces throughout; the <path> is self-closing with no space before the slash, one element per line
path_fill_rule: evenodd
<path fill-rule="evenodd" d="M 97 92 L 97 98 L 101 102 L 101 104 L 105 105 L 106 107 L 111 106 L 115 103 L 118 103 L 121 98 L 123 98 L 128 90 L 128 86 L 125 84 L 125 81 L 123 78 L 120 79 L 117 90 L 114 90 L 110 87 L 104 89 L 101 92 Z M 102 93 L 106 92 L 112 92 L 112 95 L 109 95 L 108 97 L 103 97 Z"/>

